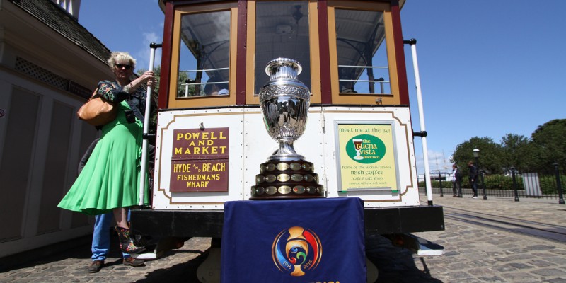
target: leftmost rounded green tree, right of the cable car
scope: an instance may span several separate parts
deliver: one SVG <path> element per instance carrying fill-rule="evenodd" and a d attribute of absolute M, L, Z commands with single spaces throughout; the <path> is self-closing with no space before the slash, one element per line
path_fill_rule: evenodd
<path fill-rule="evenodd" d="M 502 173 L 503 151 L 500 144 L 490 137 L 473 137 L 456 146 L 451 162 L 456 163 L 464 174 L 468 174 L 468 161 L 475 163 L 473 149 L 480 149 L 479 167 L 486 173 Z M 477 165 L 477 164 L 476 164 Z"/>

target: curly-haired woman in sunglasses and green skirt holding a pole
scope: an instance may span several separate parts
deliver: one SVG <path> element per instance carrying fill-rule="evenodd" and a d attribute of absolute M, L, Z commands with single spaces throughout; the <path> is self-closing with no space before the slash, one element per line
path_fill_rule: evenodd
<path fill-rule="evenodd" d="M 100 128 L 100 140 L 91 157 L 58 205 L 88 215 L 113 212 L 120 247 L 125 253 L 140 253 L 145 249 L 135 246 L 127 215 L 129 207 L 137 205 L 139 200 L 143 119 L 135 115 L 135 110 L 141 110 L 143 115 L 145 102 L 141 100 L 145 100 L 145 96 L 139 96 L 139 92 L 144 92 L 140 86 L 142 83 L 151 86 L 154 82 L 152 71 L 130 80 L 135 62 L 127 52 L 110 54 L 108 64 L 116 80 L 100 81 L 97 92 L 115 103 L 118 108 L 116 118 Z M 134 100 L 137 104 L 132 104 Z M 137 108 L 134 105 L 139 109 L 134 109 Z"/>

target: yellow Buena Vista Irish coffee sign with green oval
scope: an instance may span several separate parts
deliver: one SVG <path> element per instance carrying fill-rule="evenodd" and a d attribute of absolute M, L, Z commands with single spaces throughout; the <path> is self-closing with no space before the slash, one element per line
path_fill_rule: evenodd
<path fill-rule="evenodd" d="M 338 124 L 340 192 L 398 192 L 391 124 Z"/>

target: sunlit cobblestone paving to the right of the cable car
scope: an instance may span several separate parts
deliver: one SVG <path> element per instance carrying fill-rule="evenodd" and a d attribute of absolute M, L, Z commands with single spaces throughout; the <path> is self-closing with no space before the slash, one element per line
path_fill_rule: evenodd
<path fill-rule="evenodd" d="M 421 195 L 427 203 L 427 197 Z M 415 267 L 440 281 L 431 282 L 566 282 L 566 244 L 447 219 L 464 209 L 511 219 L 554 224 L 566 229 L 566 205 L 558 199 L 433 195 L 444 207 L 445 231 L 415 233 L 445 248 L 441 256 L 412 255 Z M 458 212 L 458 210 L 456 210 Z M 379 281 L 378 281 L 379 282 Z"/>

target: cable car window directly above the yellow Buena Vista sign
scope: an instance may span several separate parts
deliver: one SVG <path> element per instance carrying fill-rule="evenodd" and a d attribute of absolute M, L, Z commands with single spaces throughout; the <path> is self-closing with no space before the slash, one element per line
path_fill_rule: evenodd
<path fill-rule="evenodd" d="M 391 94 L 383 12 L 336 9 L 340 93 Z"/>

